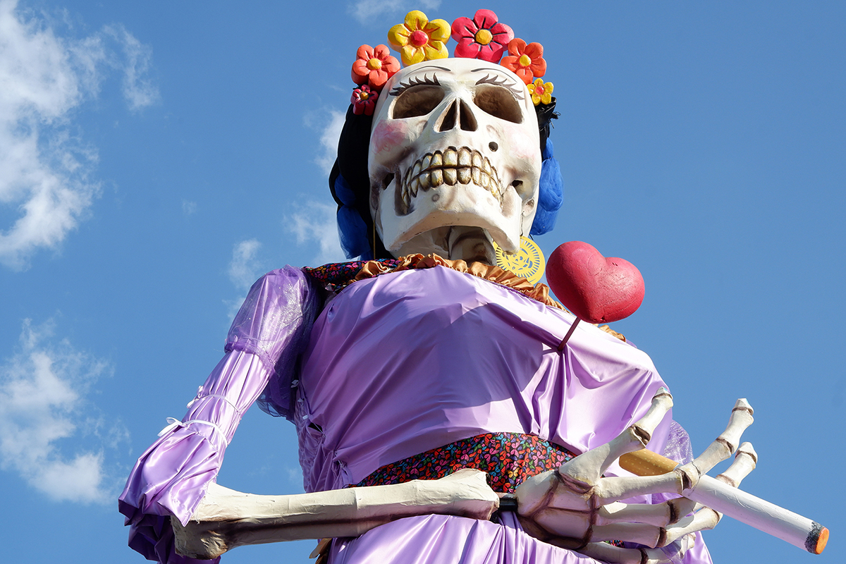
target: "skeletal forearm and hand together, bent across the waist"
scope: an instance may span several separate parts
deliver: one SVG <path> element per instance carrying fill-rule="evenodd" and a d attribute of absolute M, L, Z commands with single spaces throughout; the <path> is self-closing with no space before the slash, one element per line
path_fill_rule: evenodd
<path fill-rule="evenodd" d="M 603 478 L 607 466 L 621 453 L 645 452 L 640 449 L 648 442 L 670 402 L 668 394 L 659 392 L 649 413 L 616 439 L 574 458 L 558 471 L 539 474 L 519 486 L 516 509 L 526 531 L 553 545 L 602 561 L 667 562 L 670 561 L 667 552 L 656 547 L 676 541 L 676 556 L 683 556 L 690 546 L 689 535 L 713 528 L 722 517 L 719 513 L 684 498 L 655 505 L 624 504 L 618 500 L 643 493 L 689 495 L 695 491 L 697 483 L 708 479 L 706 471 L 737 448 L 740 434 L 751 422 L 751 410 L 740 400 L 727 430 L 692 463 L 669 472 L 647 471 L 649 477 Z M 755 452 L 749 443 L 744 443 L 731 468 L 718 479 L 737 485 L 754 467 Z M 728 488 L 727 492 L 717 492 L 717 497 L 712 499 L 723 507 L 732 507 L 733 491 Z M 739 495 L 747 501 L 766 504 L 744 492 Z M 239 545 L 359 536 L 378 525 L 414 515 L 440 513 L 487 519 L 499 506 L 497 494 L 486 485 L 484 474 L 465 468 L 437 480 L 295 496 L 255 496 L 211 485 L 190 523 L 182 526 L 174 520 L 173 527 L 181 554 L 212 558 Z M 749 508 L 733 508 L 738 509 L 742 512 Z M 693 511 L 693 516 L 685 517 Z M 755 522 L 746 522 L 768 530 Z M 599 542 L 608 539 L 628 540 L 651 548 L 622 549 Z"/>

